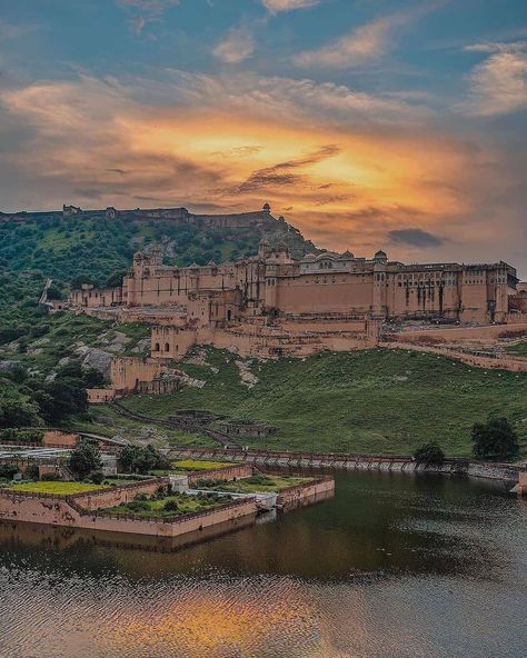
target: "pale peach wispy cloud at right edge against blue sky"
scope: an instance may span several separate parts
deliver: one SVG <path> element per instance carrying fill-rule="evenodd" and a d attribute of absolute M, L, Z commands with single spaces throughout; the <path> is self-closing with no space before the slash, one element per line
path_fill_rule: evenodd
<path fill-rule="evenodd" d="M 527 108 L 527 41 L 475 43 L 465 50 L 489 57 L 468 74 L 468 96 L 459 110 L 491 117 Z"/>

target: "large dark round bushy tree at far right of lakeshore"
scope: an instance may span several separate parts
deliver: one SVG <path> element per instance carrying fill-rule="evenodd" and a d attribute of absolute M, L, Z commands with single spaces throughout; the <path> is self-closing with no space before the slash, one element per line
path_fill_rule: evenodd
<path fill-rule="evenodd" d="M 504 417 L 489 416 L 487 422 L 476 422 L 471 439 L 474 456 L 486 461 L 515 459 L 519 455 L 518 435 Z"/>

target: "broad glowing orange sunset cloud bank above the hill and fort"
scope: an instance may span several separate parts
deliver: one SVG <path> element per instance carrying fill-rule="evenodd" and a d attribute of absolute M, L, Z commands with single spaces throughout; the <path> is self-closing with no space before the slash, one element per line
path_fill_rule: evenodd
<path fill-rule="evenodd" d="M 525 258 L 517 134 L 511 143 L 476 129 L 460 138 L 463 118 L 438 127 L 404 100 L 312 80 L 231 69 L 157 76 L 1 89 L 2 210 L 241 211 L 269 200 L 327 248 L 372 255 L 399 231 L 396 259 L 419 250 L 439 260 Z"/>

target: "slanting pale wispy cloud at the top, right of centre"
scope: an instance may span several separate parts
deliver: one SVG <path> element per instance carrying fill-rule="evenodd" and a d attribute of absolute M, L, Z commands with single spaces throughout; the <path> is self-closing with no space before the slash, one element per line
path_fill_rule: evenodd
<path fill-rule="evenodd" d="M 294 60 L 300 67 L 345 69 L 377 61 L 394 47 L 398 34 L 440 3 L 399 11 L 356 28 L 349 34 L 316 50 L 306 50 Z"/>

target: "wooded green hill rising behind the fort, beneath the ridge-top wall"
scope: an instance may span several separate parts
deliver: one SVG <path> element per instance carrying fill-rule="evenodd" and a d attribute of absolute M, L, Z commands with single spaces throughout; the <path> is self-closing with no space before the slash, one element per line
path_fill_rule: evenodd
<path fill-rule="evenodd" d="M 203 221 L 178 225 L 171 220 L 106 219 L 83 212 L 62 217 L 61 212 L 24 213 L 0 221 L 0 346 L 13 332 L 30 335 L 43 320 L 38 299 L 48 277 L 53 279 L 51 297 L 67 296 L 73 279 L 82 277 L 103 286 L 116 272 L 131 265 L 133 252 L 160 245 L 167 265 L 205 265 L 257 253 L 259 241 L 285 242 L 296 256 L 316 251 L 288 225 L 272 219 L 260 229 L 210 228 Z M 42 333 L 40 333 L 42 336 Z"/>

